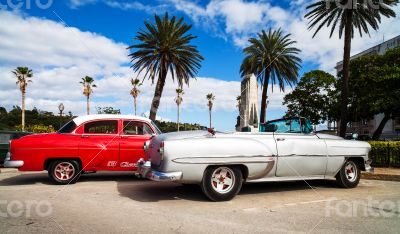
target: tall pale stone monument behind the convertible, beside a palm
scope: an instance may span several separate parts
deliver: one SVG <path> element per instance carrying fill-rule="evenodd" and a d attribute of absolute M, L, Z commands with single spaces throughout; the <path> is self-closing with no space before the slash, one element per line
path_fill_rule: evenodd
<path fill-rule="evenodd" d="M 241 82 L 239 117 L 236 131 L 258 132 L 258 83 L 254 74 Z"/>

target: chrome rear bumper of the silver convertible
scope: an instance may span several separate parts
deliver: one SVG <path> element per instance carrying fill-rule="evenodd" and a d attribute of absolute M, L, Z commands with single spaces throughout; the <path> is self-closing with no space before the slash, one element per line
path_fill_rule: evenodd
<path fill-rule="evenodd" d="M 159 172 L 151 169 L 151 162 L 139 159 L 136 163 L 137 176 L 154 181 L 177 181 L 182 179 L 182 172 Z"/>

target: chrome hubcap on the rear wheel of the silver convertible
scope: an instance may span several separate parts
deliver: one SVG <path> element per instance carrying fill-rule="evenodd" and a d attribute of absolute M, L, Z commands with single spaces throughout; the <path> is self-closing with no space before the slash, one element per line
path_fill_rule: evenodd
<path fill-rule="evenodd" d="M 228 167 L 219 167 L 211 175 L 211 187 L 218 193 L 228 193 L 235 184 L 235 175 Z"/>

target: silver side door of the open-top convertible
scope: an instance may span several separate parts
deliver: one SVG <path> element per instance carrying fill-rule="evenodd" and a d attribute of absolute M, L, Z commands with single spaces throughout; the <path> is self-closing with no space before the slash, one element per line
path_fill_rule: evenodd
<path fill-rule="evenodd" d="M 276 176 L 325 175 L 327 165 L 325 141 L 313 133 L 301 133 L 300 125 L 296 121 L 290 121 L 289 125 L 289 131 L 274 133 L 278 150 Z"/>

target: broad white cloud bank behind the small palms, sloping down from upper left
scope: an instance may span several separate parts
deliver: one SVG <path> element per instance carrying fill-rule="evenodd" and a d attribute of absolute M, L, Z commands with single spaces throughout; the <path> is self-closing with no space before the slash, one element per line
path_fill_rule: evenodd
<path fill-rule="evenodd" d="M 86 102 L 79 81 L 90 75 L 98 86 L 92 96 L 92 112 L 96 106 L 132 112 L 129 80 L 136 74 L 127 64 L 126 45 L 51 20 L 6 11 L 0 11 L 0 38 L 0 106 L 20 105 L 21 94 L 11 71 L 17 66 L 29 66 L 34 77 L 27 88 L 28 109 L 37 107 L 57 113 L 58 104 L 63 102 L 67 112 L 84 114 Z M 176 87 L 177 83 L 168 77 L 159 109 L 161 116 L 175 112 Z M 140 86 L 139 114 L 149 110 L 154 88 L 149 80 Z M 240 82 L 199 77 L 184 89 L 182 108 L 186 113 L 206 112 L 205 96 L 210 92 L 216 96 L 214 110 L 229 112 L 236 110 Z M 270 95 L 272 108 L 281 107 L 282 95 Z"/>

